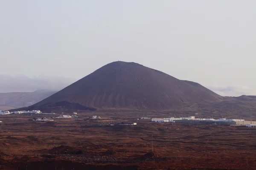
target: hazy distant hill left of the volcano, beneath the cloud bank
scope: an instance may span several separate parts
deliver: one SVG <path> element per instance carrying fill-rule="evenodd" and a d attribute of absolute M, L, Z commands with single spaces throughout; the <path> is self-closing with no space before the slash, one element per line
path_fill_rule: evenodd
<path fill-rule="evenodd" d="M 14 108 L 21 108 L 33 105 L 52 94 L 56 91 L 40 90 L 27 93 L 0 93 L 0 110 L 10 110 Z"/>

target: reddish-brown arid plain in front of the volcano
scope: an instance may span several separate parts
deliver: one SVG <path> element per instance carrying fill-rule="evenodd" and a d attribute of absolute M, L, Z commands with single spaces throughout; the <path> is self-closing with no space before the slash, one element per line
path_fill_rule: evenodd
<path fill-rule="evenodd" d="M 192 112 L 178 114 L 193 116 Z M 88 119 L 93 115 L 102 119 Z M 154 115 L 88 111 L 54 122 L 32 121 L 46 115 L 1 115 L 0 169 L 255 169 L 255 128 L 138 120 Z M 131 122 L 137 125 L 119 125 Z"/>

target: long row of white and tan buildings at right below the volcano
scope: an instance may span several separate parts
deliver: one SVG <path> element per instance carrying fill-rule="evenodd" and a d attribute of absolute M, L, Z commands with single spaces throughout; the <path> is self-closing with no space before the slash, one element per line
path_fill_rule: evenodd
<path fill-rule="evenodd" d="M 203 123 L 203 124 L 222 124 L 222 125 L 246 125 L 247 127 L 256 127 L 256 121 L 246 121 L 244 119 L 212 119 L 195 118 L 195 116 L 180 118 L 154 118 L 151 122 L 176 122 L 176 123 Z"/>

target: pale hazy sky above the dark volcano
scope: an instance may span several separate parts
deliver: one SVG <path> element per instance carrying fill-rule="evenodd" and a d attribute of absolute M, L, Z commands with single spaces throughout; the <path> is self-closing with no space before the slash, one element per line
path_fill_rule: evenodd
<path fill-rule="evenodd" d="M 256 95 L 255 9 L 255 0 L 1 0 L 0 74 L 77 80 L 121 60 Z"/>

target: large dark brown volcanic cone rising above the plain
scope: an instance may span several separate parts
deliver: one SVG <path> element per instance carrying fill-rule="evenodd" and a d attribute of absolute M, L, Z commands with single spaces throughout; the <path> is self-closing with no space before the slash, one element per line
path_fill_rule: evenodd
<path fill-rule="evenodd" d="M 67 101 L 90 108 L 169 109 L 219 102 L 222 96 L 134 62 L 112 62 L 32 105 Z"/>

